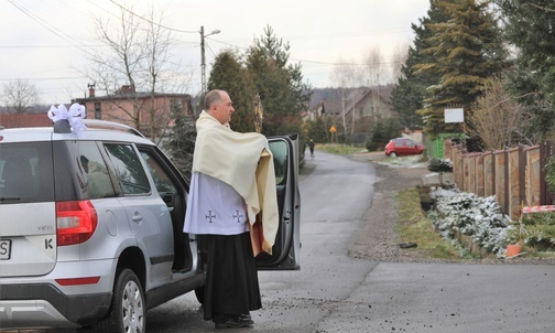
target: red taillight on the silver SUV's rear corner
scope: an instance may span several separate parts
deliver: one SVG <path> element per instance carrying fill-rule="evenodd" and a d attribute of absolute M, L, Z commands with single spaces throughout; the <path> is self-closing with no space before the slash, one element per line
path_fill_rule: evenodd
<path fill-rule="evenodd" d="M 57 245 L 87 241 L 98 224 L 98 215 L 89 201 L 56 203 Z"/>

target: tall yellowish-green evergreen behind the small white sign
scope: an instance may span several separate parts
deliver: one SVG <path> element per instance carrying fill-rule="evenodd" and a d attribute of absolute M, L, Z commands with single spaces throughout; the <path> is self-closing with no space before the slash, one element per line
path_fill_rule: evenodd
<path fill-rule="evenodd" d="M 460 131 L 459 125 L 445 123 L 444 110 L 458 107 L 469 115 L 489 77 L 503 69 L 507 52 L 489 4 L 478 0 L 436 2 L 447 20 L 427 24 L 433 32 L 427 39 L 431 46 L 421 52 L 433 61 L 415 65 L 423 73 L 440 77 L 427 87 L 424 107 L 418 111 L 425 119 L 424 130 L 432 138 Z"/>

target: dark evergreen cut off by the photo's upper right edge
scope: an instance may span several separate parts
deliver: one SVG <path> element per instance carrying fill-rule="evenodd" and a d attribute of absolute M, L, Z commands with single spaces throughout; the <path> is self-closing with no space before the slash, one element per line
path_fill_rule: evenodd
<path fill-rule="evenodd" d="M 516 47 L 508 86 L 513 98 L 532 116 L 527 137 L 542 140 L 555 127 L 555 2 L 552 0 L 496 0 L 504 23 L 504 37 Z"/>

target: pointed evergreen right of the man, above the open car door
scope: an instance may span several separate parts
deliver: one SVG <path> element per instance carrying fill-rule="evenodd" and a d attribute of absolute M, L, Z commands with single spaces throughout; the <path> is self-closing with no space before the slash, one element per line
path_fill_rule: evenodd
<path fill-rule="evenodd" d="M 247 51 L 247 69 L 262 100 L 266 136 L 301 132 L 301 111 L 308 108 L 312 87 L 303 83 L 300 64 L 287 64 L 289 49 L 268 26 Z"/>

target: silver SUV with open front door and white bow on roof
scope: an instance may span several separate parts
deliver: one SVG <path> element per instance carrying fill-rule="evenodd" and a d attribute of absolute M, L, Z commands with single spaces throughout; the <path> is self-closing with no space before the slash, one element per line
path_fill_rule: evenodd
<path fill-rule="evenodd" d="M 182 232 L 187 182 L 132 128 L 86 125 L 83 138 L 0 127 L 0 330 L 144 332 L 149 309 L 203 301 L 205 256 Z M 281 226 L 258 267 L 298 269 L 297 138 L 270 147 Z"/>

